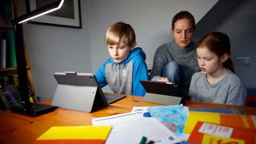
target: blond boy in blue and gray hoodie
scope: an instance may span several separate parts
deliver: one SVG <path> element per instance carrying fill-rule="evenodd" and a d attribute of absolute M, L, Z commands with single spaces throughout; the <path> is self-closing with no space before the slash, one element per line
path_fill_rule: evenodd
<path fill-rule="evenodd" d="M 136 46 L 134 29 L 117 22 L 106 30 L 105 41 L 111 58 L 95 73 L 98 84 L 110 86 L 114 93 L 144 96 L 140 80 L 148 80 L 146 54 Z"/>

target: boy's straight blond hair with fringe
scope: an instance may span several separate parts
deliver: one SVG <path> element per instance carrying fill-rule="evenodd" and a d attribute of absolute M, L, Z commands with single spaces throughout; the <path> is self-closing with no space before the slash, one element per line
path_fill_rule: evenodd
<path fill-rule="evenodd" d="M 116 22 L 106 30 L 105 42 L 107 45 L 118 45 L 121 42 L 133 46 L 136 42 L 134 29 L 127 23 Z"/>

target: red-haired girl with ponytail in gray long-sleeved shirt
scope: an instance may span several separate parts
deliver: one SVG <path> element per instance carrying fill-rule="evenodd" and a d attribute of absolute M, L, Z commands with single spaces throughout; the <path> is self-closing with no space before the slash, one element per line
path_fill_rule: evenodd
<path fill-rule="evenodd" d="M 221 32 L 206 34 L 196 46 L 201 71 L 191 79 L 189 95 L 197 102 L 244 105 L 246 89 L 230 59 L 230 38 Z"/>

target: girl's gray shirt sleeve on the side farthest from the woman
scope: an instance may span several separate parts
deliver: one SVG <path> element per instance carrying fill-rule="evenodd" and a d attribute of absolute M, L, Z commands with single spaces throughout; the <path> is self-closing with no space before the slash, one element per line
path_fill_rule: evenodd
<path fill-rule="evenodd" d="M 242 85 L 242 82 L 232 82 L 227 95 L 226 104 L 243 106 L 246 102 L 246 95 L 246 88 Z"/>

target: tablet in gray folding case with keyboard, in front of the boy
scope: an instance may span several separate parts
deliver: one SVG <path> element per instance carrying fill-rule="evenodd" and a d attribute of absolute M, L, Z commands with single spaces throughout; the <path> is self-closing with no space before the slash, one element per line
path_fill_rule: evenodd
<path fill-rule="evenodd" d="M 54 78 L 58 86 L 52 106 L 90 113 L 126 97 L 123 94 L 103 94 L 94 74 L 66 71 L 54 73 Z"/>

